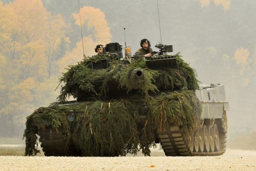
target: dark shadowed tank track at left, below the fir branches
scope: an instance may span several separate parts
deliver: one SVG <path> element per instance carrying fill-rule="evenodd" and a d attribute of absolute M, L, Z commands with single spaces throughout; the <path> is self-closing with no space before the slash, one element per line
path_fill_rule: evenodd
<path fill-rule="evenodd" d="M 57 132 L 55 128 L 47 127 L 44 131 L 38 131 L 38 135 L 45 156 L 70 156 L 61 129 Z"/>

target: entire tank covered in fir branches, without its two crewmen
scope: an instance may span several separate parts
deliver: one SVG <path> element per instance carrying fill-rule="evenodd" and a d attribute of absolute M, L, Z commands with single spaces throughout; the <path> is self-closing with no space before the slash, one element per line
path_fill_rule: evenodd
<path fill-rule="evenodd" d="M 69 66 L 58 101 L 27 117 L 25 155 L 41 145 L 46 156 L 146 156 L 157 143 L 166 156 L 225 152 L 223 85 L 199 86 L 180 53 L 168 54 L 172 46 L 156 45 L 160 51 L 147 60 L 121 60 L 122 46 L 106 47 L 111 52 Z"/>

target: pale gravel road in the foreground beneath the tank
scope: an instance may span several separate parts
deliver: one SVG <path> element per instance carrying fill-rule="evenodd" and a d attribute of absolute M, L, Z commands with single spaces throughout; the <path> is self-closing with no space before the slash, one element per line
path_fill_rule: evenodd
<path fill-rule="evenodd" d="M 256 151 L 230 150 L 216 157 L 22 157 L 0 156 L 0 170 L 256 170 Z"/>

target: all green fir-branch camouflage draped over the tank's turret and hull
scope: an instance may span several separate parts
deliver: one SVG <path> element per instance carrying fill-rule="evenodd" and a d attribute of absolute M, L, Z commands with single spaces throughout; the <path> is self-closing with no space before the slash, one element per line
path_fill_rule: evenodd
<path fill-rule="evenodd" d="M 58 97 L 60 101 L 71 95 L 74 84 L 79 84 L 81 89 L 88 92 L 104 95 L 108 91 L 109 79 L 115 79 L 120 89 L 129 92 L 134 89 L 129 79 L 134 69 L 142 70 L 145 77 L 138 89 L 139 93 L 127 98 L 94 100 L 67 106 L 53 103 L 43 113 L 36 110 L 27 117 L 23 135 L 26 137 L 25 155 L 39 152 L 36 134 L 46 127 L 56 130 L 62 127 L 66 144 L 72 141 L 83 156 L 136 154 L 140 149 L 143 154 L 150 155 L 149 148 L 155 146 L 154 133 L 157 128 L 173 122 L 182 125 L 184 132 L 195 127 L 200 117 L 200 104 L 195 100 L 194 93 L 198 88 L 198 80 L 195 71 L 179 57 L 179 53 L 176 58 L 176 67 L 157 70 L 146 68 L 142 59 L 133 61 L 127 67 L 123 67 L 121 61 L 110 60 L 111 67 L 108 69 L 87 68 L 88 61 L 95 62 L 104 57 L 85 59 L 76 66 L 70 66 L 61 78 L 66 84 Z M 97 80 L 103 80 L 99 92 L 94 88 Z M 158 92 L 158 87 L 163 86 L 169 90 Z M 146 118 L 143 121 L 140 119 L 141 104 L 146 106 Z M 70 110 L 76 113 L 73 122 L 69 122 L 66 117 Z"/>

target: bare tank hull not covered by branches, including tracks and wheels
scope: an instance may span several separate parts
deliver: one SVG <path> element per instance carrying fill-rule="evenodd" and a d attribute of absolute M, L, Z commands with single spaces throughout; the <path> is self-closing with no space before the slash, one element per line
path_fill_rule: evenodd
<path fill-rule="evenodd" d="M 212 92 L 215 96 L 210 95 Z M 201 105 L 200 122 L 196 127 L 190 127 L 189 131 L 185 132 L 182 125 L 178 126 L 176 122 L 156 126 L 155 142 L 160 142 L 166 156 L 221 155 L 226 150 L 228 102 L 224 86 L 209 86 L 196 90 L 195 94 Z M 70 104 L 74 104 L 74 101 L 65 105 Z M 140 113 L 139 118 L 138 125 L 142 125 L 143 128 L 147 116 Z M 55 128 L 47 127 L 45 131 L 38 130 L 38 135 L 46 156 L 82 156 L 81 149 L 73 142 L 70 141 L 69 145 L 66 145 L 65 133 L 61 128 L 57 131 Z"/>

